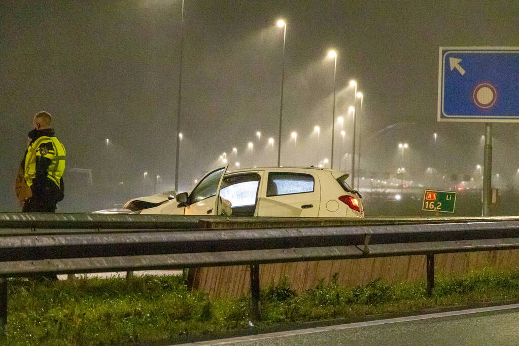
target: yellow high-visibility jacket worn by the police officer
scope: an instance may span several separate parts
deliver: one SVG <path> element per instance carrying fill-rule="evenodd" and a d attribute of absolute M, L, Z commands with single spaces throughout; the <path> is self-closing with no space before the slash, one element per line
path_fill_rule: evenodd
<path fill-rule="evenodd" d="M 60 187 L 60 179 L 65 171 L 65 147 L 56 137 L 41 136 L 29 144 L 25 155 L 25 181 L 27 185 L 33 184 L 36 176 L 36 158 L 38 156 L 48 158 L 50 164 L 47 178 Z"/>

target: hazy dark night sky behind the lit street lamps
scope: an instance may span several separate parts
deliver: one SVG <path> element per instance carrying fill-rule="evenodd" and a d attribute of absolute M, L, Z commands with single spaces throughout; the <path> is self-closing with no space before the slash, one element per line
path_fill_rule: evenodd
<path fill-rule="evenodd" d="M 172 189 L 181 0 L 3 1 L 0 18 L 0 210 L 19 210 L 16 170 L 39 110 L 52 114 L 67 149 L 71 171 L 60 211 L 110 208 Z M 419 179 L 427 167 L 474 174 L 482 164 L 482 123 L 436 121 L 438 49 L 519 46 L 519 2 L 185 0 L 181 191 L 217 167 L 223 152 L 230 160 L 233 147 L 241 167 L 276 165 L 279 18 L 288 23 L 282 165 L 330 158 L 329 49 L 338 52 L 336 117 L 345 118 L 346 131 L 342 144 L 337 128 L 336 162 L 351 152 L 348 82 L 356 79 L 365 95 L 357 113 L 363 174 L 403 164 Z M 497 185 L 517 179 L 518 135 L 517 124 L 494 126 Z M 399 142 L 409 143 L 403 162 Z M 92 184 L 74 168 L 91 169 Z M 343 161 L 341 169 L 349 164 Z"/>

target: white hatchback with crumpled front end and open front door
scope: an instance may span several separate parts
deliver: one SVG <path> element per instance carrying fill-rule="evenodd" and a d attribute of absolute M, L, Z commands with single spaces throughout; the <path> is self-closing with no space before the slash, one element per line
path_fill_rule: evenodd
<path fill-rule="evenodd" d="M 317 167 L 257 167 L 209 172 L 192 192 L 167 192 L 125 204 L 140 214 L 363 218 L 348 174 Z M 220 198 L 221 197 L 221 198 Z M 229 208 L 230 204 L 230 208 Z M 143 209 L 145 208 L 145 209 Z"/>

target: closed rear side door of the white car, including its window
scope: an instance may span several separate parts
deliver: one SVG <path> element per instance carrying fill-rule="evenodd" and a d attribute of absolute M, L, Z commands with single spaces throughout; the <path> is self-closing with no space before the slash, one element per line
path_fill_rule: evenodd
<path fill-rule="evenodd" d="M 312 172 L 268 171 L 258 201 L 258 216 L 317 217 L 319 177 Z"/>

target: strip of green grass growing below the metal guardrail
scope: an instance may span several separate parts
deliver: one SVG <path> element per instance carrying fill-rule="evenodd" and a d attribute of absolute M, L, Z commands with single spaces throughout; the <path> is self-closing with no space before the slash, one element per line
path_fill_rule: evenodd
<path fill-rule="evenodd" d="M 262 291 L 265 327 L 283 323 L 362 319 L 433 307 L 519 300 L 519 269 L 482 270 L 425 283 L 387 285 L 379 280 L 346 289 L 319 283 L 297 295 L 286 280 Z M 8 345 L 110 345 L 183 341 L 250 329 L 250 300 L 210 299 L 189 291 L 179 277 L 10 280 Z"/>

